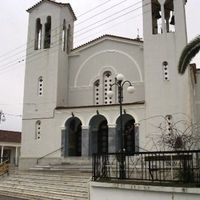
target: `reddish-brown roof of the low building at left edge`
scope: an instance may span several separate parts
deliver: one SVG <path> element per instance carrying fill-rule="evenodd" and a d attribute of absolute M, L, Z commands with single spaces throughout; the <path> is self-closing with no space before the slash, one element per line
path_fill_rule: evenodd
<path fill-rule="evenodd" d="M 21 143 L 21 132 L 0 130 L 0 142 Z"/>

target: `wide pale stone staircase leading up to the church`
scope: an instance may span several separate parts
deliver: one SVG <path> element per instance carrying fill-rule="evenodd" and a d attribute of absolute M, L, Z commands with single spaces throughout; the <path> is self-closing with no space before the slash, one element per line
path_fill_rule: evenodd
<path fill-rule="evenodd" d="M 16 170 L 0 179 L 0 195 L 29 200 L 89 199 L 91 174 L 72 170 L 72 168 L 71 170 L 60 169 Z"/>

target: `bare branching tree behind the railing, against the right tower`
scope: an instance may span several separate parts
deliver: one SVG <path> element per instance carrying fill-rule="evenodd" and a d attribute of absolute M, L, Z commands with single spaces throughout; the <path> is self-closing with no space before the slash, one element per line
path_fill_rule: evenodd
<path fill-rule="evenodd" d="M 166 115 L 158 125 L 157 131 L 149 135 L 157 150 L 191 150 L 200 146 L 200 124 L 182 119 L 174 121 Z"/>

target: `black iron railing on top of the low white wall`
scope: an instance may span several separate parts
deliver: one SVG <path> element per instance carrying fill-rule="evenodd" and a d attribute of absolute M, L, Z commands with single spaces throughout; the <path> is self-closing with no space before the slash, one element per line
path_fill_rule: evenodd
<path fill-rule="evenodd" d="M 93 180 L 200 184 L 200 150 L 93 154 Z"/>

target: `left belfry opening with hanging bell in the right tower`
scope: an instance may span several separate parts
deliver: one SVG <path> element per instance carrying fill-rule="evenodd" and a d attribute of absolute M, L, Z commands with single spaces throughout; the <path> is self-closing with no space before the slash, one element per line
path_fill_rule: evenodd
<path fill-rule="evenodd" d="M 162 13 L 161 5 L 158 0 L 152 0 L 152 33 L 160 34 L 162 30 Z"/>

